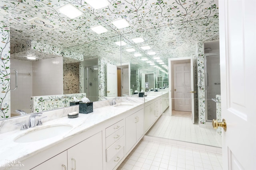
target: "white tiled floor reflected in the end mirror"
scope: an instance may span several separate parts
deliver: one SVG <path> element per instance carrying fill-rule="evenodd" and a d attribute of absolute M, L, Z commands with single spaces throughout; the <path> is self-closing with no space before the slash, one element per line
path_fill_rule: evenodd
<path fill-rule="evenodd" d="M 146 134 L 148 136 L 174 139 L 221 147 L 221 137 L 213 128 L 199 127 L 190 117 L 170 116 L 169 109 L 161 115 Z"/>

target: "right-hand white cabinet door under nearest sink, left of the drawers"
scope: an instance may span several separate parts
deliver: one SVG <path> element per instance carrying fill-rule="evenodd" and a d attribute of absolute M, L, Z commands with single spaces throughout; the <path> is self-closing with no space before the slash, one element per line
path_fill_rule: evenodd
<path fill-rule="evenodd" d="M 102 170 L 102 132 L 68 149 L 68 170 Z"/>

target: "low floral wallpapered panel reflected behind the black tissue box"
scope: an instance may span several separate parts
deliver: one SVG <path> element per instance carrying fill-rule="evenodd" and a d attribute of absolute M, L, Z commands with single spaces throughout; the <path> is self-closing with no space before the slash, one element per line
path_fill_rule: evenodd
<path fill-rule="evenodd" d="M 31 113 L 70 106 L 70 102 L 74 101 L 74 97 L 76 97 L 78 100 L 81 100 L 83 97 L 86 97 L 86 94 L 77 93 L 54 96 L 32 96 L 30 99 Z"/>

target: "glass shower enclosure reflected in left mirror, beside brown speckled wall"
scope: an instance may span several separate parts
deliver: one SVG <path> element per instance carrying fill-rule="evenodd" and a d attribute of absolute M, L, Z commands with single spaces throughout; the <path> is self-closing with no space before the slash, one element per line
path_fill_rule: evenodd
<path fill-rule="evenodd" d="M 92 101 L 98 101 L 98 66 L 84 67 L 84 87 L 86 97 Z"/>

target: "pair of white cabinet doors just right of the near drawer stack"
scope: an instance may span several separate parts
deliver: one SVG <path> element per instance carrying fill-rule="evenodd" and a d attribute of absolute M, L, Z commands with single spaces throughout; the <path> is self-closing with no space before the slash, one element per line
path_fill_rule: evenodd
<path fill-rule="evenodd" d="M 133 148 L 136 142 L 144 134 L 144 109 L 133 113 L 125 118 L 126 125 L 126 153 Z"/>

